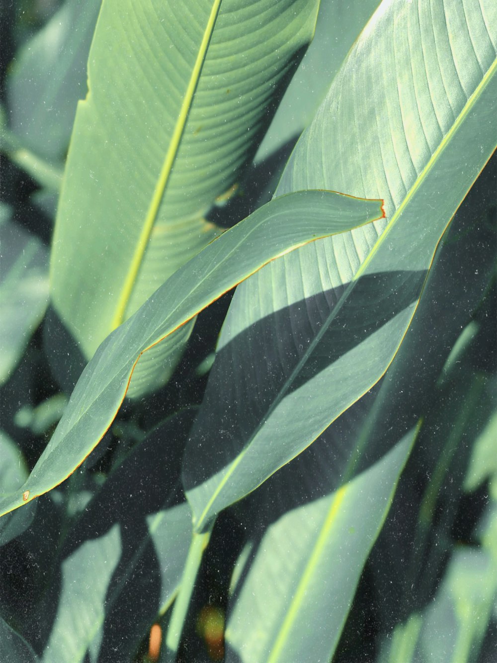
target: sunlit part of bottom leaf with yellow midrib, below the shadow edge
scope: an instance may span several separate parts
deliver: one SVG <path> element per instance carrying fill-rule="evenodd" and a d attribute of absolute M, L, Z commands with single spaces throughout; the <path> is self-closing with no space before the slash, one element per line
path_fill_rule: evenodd
<path fill-rule="evenodd" d="M 330 660 L 415 432 L 338 491 L 269 526 L 229 615 L 227 661 Z"/>

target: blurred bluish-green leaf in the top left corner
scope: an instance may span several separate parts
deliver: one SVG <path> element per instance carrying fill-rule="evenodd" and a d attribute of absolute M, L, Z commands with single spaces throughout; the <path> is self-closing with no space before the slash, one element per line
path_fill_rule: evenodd
<path fill-rule="evenodd" d="M 28 172 L 37 158 L 62 162 L 65 156 L 76 104 L 86 94 L 86 60 L 100 4 L 67 0 L 16 54 L 7 78 L 9 120 L 23 149 L 19 158 L 27 159 L 16 162 Z"/>

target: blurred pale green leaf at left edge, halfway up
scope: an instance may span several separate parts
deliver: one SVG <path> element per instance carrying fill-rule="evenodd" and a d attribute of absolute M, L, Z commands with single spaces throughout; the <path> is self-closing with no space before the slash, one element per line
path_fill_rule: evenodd
<path fill-rule="evenodd" d="M 48 302 L 48 256 L 17 223 L 0 222 L 0 385 L 7 382 Z"/>

